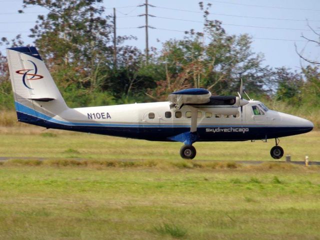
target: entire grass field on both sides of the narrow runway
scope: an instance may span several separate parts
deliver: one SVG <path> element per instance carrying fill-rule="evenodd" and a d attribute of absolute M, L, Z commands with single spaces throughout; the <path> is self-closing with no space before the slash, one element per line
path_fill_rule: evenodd
<path fill-rule="evenodd" d="M 280 145 L 314 161 L 319 139 Z M 194 161 L 180 145 L 1 127 L 0 239 L 320 239 L 320 167 L 236 163 L 273 141 L 195 143 Z"/>

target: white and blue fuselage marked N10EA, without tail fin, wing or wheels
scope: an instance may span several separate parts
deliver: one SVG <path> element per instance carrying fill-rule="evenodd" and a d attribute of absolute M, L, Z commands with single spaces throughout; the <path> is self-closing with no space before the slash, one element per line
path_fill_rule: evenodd
<path fill-rule="evenodd" d="M 23 122 L 80 132 L 90 132 L 137 139 L 171 141 L 170 136 L 190 130 L 189 107 L 170 109 L 169 102 L 133 103 L 111 106 L 68 108 L 58 115 L 40 113 L 37 117 L 17 112 Z M 216 114 L 198 108 L 197 141 L 241 141 L 267 139 L 305 133 L 313 124 L 301 117 L 261 109 L 259 101 L 249 101 L 237 114 Z M 252 106 L 259 107 L 254 114 Z M 207 110 L 207 108 L 205 108 Z"/>

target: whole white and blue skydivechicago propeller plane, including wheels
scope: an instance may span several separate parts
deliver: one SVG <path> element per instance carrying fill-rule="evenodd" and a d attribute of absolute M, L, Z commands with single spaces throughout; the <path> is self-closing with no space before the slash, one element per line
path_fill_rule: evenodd
<path fill-rule="evenodd" d="M 35 47 L 7 49 L 19 121 L 46 128 L 91 132 L 154 141 L 180 141 L 183 158 L 196 154 L 195 141 L 275 138 L 270 154 L 283 149 L 278 137 L 311 131 L 312 122 L 268 109 L 239 96 L 211 96 L 202 88 L 175 91 L 169 101 L 69 108 Z"/>

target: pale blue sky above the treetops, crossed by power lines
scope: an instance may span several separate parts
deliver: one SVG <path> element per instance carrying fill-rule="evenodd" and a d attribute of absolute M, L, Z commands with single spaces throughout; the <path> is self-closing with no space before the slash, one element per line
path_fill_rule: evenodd
<path fill-rule="evenodd" d="M 137 5 L 145 0 L 104 0 L 106 12 L 111 14 L 116 7 L 117 33 L 135 35 L 137 40 L 127 44 L 144 49 L 144 7 Z M 161 48 L 161 42 L 170 38 L 181 39 L 183 31 L 190 28 L 201 31 L 202 14 L 198 0 L 148 0 L 154 7 L 149 7 L 149 46 Z M 252 47 L 255 52 L 265 55 L 265 64 L 272 67 L 287 66 L 299 71 L 301 62 L 294 50 L 304 48 L 304 55 L 320 60 L 320 47 L 307 43 L 301 38 L 317 39 L 308 28 L 307 21 L 320 32 L 320 0 L 204 0 L 212 4 L 209 19 L 218 19 L 229 34 L 248 33 L 253 37 Z M 17 14 L 22 0 L 0 0 L 0 36 L 13 38 L 21 33 L 25 43 L 32 43 L 27 37 L 38 14 L 45 12 L 40 7 L 28 7 L 26 13 Z M 171 9 L 170 9 L 171 8 Z M 43 14 L 43 13 L 42 13 Z M 175 18 L 175 19 L 167 19 Z M 182 19 L 182 20 L 181 20 Z M 162 29 L 160 29 L 162 28 Z M 4 48 L 2 47 L 1 50 Z"/>

